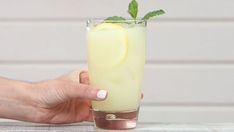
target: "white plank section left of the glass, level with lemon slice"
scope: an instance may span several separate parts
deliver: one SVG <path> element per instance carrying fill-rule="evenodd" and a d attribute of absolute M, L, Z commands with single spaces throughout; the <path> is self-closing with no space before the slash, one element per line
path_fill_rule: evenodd
<path fill-rule="evenodd" d="M 0 60 L 84 60 L 85 31 L 85 23 L 79 22 L 3 22 Z"/>

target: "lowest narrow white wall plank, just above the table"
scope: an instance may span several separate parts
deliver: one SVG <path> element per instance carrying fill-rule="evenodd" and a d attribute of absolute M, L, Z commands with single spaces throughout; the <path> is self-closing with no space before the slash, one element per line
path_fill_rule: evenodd
<path fill-rule="evenodd" d="M 139 122 L 142 123 L 223 123 L 233 121 L 234 107 L 232 106 L 142 105 L 139 114 Z M 15 120 L 0 119 L 0 122 L 15 122 Z"/>

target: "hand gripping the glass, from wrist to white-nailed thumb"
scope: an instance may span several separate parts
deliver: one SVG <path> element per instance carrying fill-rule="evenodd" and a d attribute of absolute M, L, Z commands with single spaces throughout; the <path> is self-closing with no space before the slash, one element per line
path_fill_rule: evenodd
<path fill-rule="evenodd" d="M 80 83 L 79 83 L 80 82 Z M 106 91 L 92 88 L 88 72 L 74 71 L 36 85 L 36 116 L 33 122 L 73 123 L 92 121 L 91 100 L 103 100 Z"/>

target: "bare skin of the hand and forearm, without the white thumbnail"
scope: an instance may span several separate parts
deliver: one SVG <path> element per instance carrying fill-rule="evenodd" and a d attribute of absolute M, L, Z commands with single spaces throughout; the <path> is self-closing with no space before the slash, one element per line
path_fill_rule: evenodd
<path fill-rule="evenodd" d="M 0 118 L 53 124 L 92 121 L 91 101 L 105 99 L 97 97 L 99 88 L 88 85 L 87 71 L 38 83 L 0 78 L 0 84 Z"/>

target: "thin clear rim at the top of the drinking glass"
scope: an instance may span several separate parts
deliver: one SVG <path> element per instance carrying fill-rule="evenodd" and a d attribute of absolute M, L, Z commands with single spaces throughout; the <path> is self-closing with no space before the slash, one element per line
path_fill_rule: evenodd
<path fill-rule="evenodd" d="M 92 18 L 92 19 L 87 19 L 87 23 L 102 23 L 102 22 L 109 22 L 109 23 L 133 23 L 133 24 L 142 24 L 142 23 L 147 23 L 147 20 L 142 20 L 142 19 L 126 19 L 126 20 L 105 20 L 103 18 Z"/>

